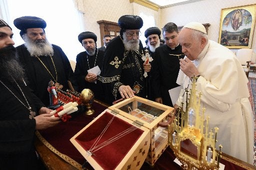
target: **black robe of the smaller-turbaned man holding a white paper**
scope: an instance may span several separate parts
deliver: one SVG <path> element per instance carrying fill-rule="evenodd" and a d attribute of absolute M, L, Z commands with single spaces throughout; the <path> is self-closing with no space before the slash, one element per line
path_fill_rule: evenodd
<path fill-rule="evenodd" d="M 75 89 L 77 92 L 81 92 L 83 89 L 90 89 L 94 93 L 94 97 L 103 101 L 104 94 L 102 89 L 102 83 L 96 80 L 94 82 L 85 81 L 85 76 L 88 74 L 89 69 L 98 66 L 101 70 L 103 62 L 104 51 L 97 50 L 94 55 L 88 55 L 86 51 L 80 52 L 76 56 L 76 65 L 74 70 Z"/>

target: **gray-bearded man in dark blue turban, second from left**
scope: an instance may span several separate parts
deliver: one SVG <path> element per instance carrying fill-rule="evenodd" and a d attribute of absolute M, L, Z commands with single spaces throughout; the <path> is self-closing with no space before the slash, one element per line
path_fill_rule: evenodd
<path fill-rule="evenodd" d="M 16 47 L 18 57 L 24 66 L 27 85 L 46 105 L 49 105 L 48 82 L 63 85 L 68 89 L 73 71 L 62 49 L 48 42 L 45 30 L 46 22 L 36 16 L 22 16 L 14 19 L 14 25 L 20 30 L 24 44 Z"/>

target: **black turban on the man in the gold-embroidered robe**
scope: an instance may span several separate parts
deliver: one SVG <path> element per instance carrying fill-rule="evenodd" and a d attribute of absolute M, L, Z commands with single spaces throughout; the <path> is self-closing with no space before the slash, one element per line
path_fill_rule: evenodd
<path fill-rule="evenodd" d="M 121 29 L 140 29 L 143 20 L 136 15 L 123 15 L 118 19 L 118 25 Z"/>

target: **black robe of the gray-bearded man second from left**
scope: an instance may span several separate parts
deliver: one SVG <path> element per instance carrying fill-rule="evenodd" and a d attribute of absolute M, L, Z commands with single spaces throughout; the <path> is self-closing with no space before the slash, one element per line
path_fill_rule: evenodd
<path fill-rule="evenodd" d="M 52 44 L 52 47 L 53 55 L 51 57 L 54 65 L 50 56 L 39 56 L 39 58 L 55 80 L 57 74 L 57 82 L 63 85 L 62 89 L 65 91 L 68 89 L 67 81 L 71 80 L 73 71 L 62 49 L 54 44 Z M 25 69 L 25 74 L 28 80 L 27 85 L 33 90 L 34 94 L 43 102 L 43 104 L 48 106 L 48 83 L 50 80 L 55 83 L 55 80 L 51 77 L 51 75 L 48 73 L 43 64 L 38 60 L 38 58 L 30 56 L 24 44 L 17 46 L 16 49 L 20 62 Z M 56 68 L 56 72 L 54 66 Z"/>

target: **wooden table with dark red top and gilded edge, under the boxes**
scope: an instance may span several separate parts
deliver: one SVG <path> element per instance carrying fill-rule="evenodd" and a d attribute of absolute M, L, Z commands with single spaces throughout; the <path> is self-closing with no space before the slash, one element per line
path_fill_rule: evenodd
<path fill-rule="evenodd" d="M 96 118 L 108 106 L 100 101 L 94 101 L 92 108 L 93 115 L 79 113 L 74 115 L 69 121 L 61 122 L 55 127 L 46 130 L 36 131 L 35 147 L 41 157 L 45 167 L 49 170 L 59 169 L 82 169 L 85 159 L 71 144 L 69 139 L 85 127 L 90 121 Z M 180 167 L 173 162 L 175 156 L 169 147 L 162 153 L 156 161 L 154 167 L 149 167 L 144 163 L 141 170 L 179 170 Z M 228 155 L 222 154 L 221 164 L 225 165 L 225 170 L 255 170 L 255 167 L 237 160 Z M 84 164 L 86 169 L 92 169 L 88 164 Z"/>

